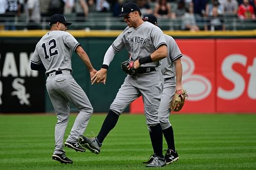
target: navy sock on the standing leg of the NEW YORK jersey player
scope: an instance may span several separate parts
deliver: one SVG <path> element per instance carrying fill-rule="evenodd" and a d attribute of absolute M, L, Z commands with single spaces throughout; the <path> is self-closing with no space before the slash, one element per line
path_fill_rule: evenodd
<path fill-rule="evenodd" d="M 163 134 L 160 124 L 150 127 L 150 138 L 154 153 L 156 156 L 163 158 Z"/>

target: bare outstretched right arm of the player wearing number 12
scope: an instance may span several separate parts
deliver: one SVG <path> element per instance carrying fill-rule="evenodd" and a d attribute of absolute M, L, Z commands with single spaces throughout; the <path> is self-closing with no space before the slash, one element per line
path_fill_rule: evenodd
<path fill-rule="evenodd" d="M 96 74 L 97 70 L 93 68 L 93 65 L 90 61 L 89 56 L 83 50 L 82 46 L 77 46 L 76 51 L 77 55 L 82 59 L 83 63 L 86 64 L 87 69 L 90 71 L 91 78 Z"/>

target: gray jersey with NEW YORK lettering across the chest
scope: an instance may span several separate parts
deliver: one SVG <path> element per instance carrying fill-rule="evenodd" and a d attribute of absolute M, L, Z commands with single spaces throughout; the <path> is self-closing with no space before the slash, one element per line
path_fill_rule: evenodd
<path fill-rule="evenodd" d="M 132 59 L 137 60 L 151 55 L 163 44 L 166 44 L 166 40 L 161 29 L 152 23 L 144 22 L 136 29 L 126 27 L 112 43 L 112 46 L 117 52 L 125 47 L 131 54 Z M 156 67 L 159 65 L 159 61 L 157 61 L 142 64 L 141 67 Z"/>

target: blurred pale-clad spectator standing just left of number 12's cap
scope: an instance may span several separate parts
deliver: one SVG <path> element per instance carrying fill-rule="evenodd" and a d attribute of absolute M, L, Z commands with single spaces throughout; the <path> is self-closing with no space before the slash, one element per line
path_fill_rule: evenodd
<path fill-rule="evenodd" d="M 39 0 L 25 0 L 25 11 L 27 14 L 28 30 L 41 29 L 39 23 L 41 22 L 40 3 Z"/>

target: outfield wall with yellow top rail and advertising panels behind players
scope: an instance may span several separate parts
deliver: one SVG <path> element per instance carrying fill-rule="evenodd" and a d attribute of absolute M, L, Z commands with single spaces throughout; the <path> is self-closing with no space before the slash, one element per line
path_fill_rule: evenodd
<path fill-rule="evenodd" d="M 0 113 L 54 112 L 45 89 L 44 72 L 31 71 L 36 42 L 47 31 L 0 32 Z M 99 69 L 105 51 L 120 31 L 70 31 Z M 256 113 L 256 30 L 240 32 L 165 32 L 176 38 L 184 55 L 183 86 L 188 113 Z M 73 76 L 86 91 L 95 112 L 108 112 L 125 74 L 127 52 L 118 53 L 108 70 L 107 84 L 91 85 L 86 66 L 73 54 Z M 77 111 L 71 105 L 71 111 Z M 141 99 L 125 111 L 142 113 Z"/>

